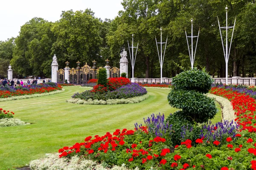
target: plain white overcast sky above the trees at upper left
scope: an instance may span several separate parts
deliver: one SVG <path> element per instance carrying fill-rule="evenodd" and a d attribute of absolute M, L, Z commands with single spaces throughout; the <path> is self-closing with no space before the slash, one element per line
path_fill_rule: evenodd
<path fill-rule="evenodd" d="M 0 0 L 0 40 L 19 35 L 20 26 L 33 17 L 55 22 L 61 11 L 91 8 L 94 16 L 114 19 L 123 10 L 122 0 Z"/>

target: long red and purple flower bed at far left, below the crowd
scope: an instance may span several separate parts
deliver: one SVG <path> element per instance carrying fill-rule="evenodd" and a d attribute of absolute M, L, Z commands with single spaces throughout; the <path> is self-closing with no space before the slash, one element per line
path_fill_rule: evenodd
<path fill-rule="evenodd" d="M 38 85 L 18 86 L 18 87 L 0 87 L 0 98 L 9 98 L 13 96 L 23 96 L 32 94 L 48 93 L 50 91 L 61 90 L 61 86 L 55 83 L 42 83 Z"/>

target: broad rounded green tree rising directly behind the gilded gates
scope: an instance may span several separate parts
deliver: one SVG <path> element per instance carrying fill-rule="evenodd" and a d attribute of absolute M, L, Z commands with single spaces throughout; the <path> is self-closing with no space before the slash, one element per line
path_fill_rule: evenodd
<path fill-rule="evenodd" d="M 62 11 L 61 19 L 54 24 L 52 31 L 57 37 L 52 46 L 52 54 L 56 54 L 61 67 L 67 60 L 70 65 L 101 60 L 99 56 L 102 37 L 102 23 L 94 17 L 93 11 Z"/>

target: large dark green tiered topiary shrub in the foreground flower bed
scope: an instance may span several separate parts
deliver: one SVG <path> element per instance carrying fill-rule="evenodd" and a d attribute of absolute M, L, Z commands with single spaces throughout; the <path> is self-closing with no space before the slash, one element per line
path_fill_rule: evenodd
<path fill-rule="evenodd" d="M 167 99 L 169 104 L 182 111 L 176 112 L 191 122 L 203 123 L 217 113 L 214 100 L 205 96 L 213 79 L 204 70 L 194 68 L 173 78 L 173 88 Z"/>

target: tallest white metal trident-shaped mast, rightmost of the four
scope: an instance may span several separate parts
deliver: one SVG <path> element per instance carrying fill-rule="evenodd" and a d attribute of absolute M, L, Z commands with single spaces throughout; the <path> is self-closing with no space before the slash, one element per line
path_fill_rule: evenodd
<path fill-rule="evenodd" d="M 223 44 L 222 34 L 221 34 L 221 42 L 222 42 L 222 47 L 223 47 L 223 52 L 224 52 L 224 58 L 225 58 L 225 62 L 226 62 L 226 84 L 227 84 L 227 72 L 228 72 L 227 66 L 228 66 L 228 59 L 229 59 L 229 55 L 230 55 L 231 43 L 232 43 L 232 39 L 233 39 L 233 33 L 234 33 L 234 30 L 235 30 L 236 18 L 235 18 L 234 26 L 227 26 L 227 9 L 228 9 L 227 6 L 226 6 L 225 9 L 226 9 L 226 26 L 225 26 L 225 27 L 221 27 L 219 20 L 218 20 L 218 25 L 219 25 L 220 33 L 221 33 L 221 28 L 226 29 L 226 53 L 225 53 L 225 48 L 224 48 L 224 44 Z M 218 18 L 218 16 L 217 16 L 217 18 Z M 229 48 L 229 50 L 228 50 L 228 45 L 227 45 L 227 30 L 230 29 L 230 28 L 233 28 L 233 31 L 232 31 L 231 41 L 230 41 L 230 48 Z"/>

